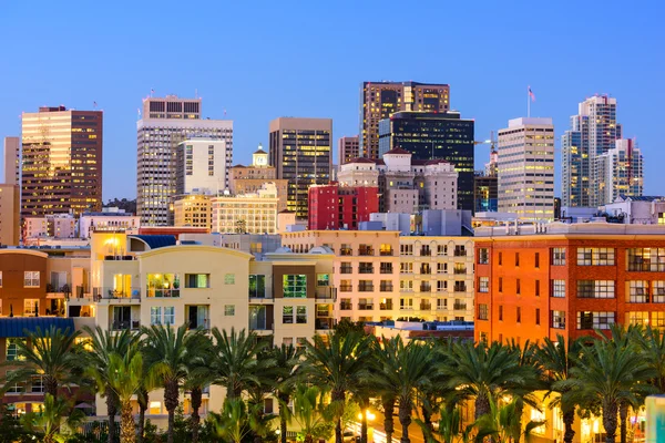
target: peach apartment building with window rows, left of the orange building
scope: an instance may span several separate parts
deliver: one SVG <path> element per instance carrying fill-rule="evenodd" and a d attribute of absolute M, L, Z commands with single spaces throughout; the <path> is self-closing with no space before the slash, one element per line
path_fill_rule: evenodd
<path fill-rule="evenodd" d="M 283 245 L 335 253 L 338 320 L 473 320 L 473 239 L 387 230 L 286 233 Z"/>

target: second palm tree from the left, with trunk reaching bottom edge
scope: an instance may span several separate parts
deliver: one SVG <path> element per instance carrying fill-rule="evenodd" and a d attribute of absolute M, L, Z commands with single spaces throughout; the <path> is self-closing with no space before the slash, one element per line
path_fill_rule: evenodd
<path fill-rule="evenodd" d="M 115 414 L 117 412 L 119 399 L 115 391 L 110 385 L 110 379 L 115 374 L 110 372 L 111 354 L 117 353 L 124 356 L 130 350 L 136 337 L 129 330 L 122 332 L 111 332 L 103 330 L 99 326 L 92 329 L 88 326 L 83 330 L 90 336 L 90 352 L 85 354 L 88 372 L 101 378 L 98 381 L 100 393 L 106 399 L 106 410 L 109 414 L 109 443 L 115 441 Z"/>

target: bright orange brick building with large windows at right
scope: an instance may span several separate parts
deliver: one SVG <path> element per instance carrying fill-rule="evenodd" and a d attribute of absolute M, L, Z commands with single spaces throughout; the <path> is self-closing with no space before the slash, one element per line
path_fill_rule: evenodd
<path fill-rule="evenodd" d="M 577 338 L 612 323 L 665 329 L 665 226 L 481 227 L 475 236 L 475 340 Z"/>

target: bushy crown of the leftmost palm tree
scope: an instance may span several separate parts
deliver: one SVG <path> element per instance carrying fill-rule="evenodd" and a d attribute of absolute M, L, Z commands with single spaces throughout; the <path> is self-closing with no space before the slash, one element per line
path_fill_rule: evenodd
<path fill-rule="evenodd" d="M 30 382 L 34 377 L 42 377 L 44 392 L 58 398 L 62 385 L 72 385 L 80 381 L 82 372 L 82 346 L 76 342 L 81 331 L 62 330 L 54 326 L 42 331 L 39 327 L 28 332 L 27 341 L 18 341 L 17 360 L 7 361 L 4 367 L 12 371 L 3 382 L 4 387 Z"/>

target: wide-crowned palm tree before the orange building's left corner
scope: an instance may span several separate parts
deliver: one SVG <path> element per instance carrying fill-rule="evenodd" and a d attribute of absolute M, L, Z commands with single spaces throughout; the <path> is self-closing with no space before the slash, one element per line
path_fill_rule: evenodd
<path fill-rule="evenodd" d="M 473 398 L 475 419 L 490 412 L 490 400 L 518 392 L 533 378 L 533 369 L 521 367 L 515 352 L 499 342 L 456 342 L 449 351 L 450 364 L 441 368 L 449 388 L 461 398 Z"/>

